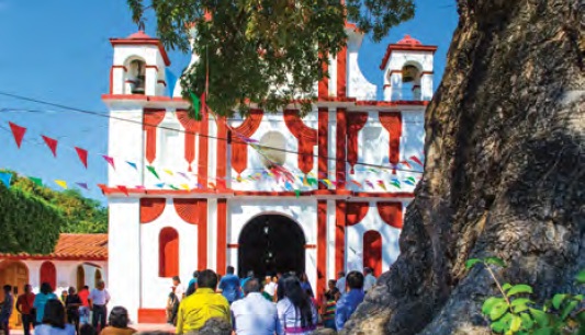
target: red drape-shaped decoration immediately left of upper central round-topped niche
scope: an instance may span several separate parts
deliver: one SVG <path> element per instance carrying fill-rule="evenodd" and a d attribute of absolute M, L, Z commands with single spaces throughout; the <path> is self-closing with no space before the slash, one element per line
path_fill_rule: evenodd
<path fill-rule="evenodd" d="M 232 129 L 240 136 L 250 137 L 260 127 L 262 116 L 263 113 L 261 109 L 251 109 L 244 123 L 239 127 Z M 248 145 L 236 136 L 236 134 L 234 134 L 234 138 L 232 139 L 232 168 L 240 174 L 248 166 Z"/>

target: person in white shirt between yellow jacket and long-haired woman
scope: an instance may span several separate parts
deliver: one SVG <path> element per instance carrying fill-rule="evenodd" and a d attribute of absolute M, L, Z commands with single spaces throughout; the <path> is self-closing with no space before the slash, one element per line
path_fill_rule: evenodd
<path fill-rule="evenodd" d="M 260 293 L 261 284 L 254 278 L 246 281 L 246 298 L 232 303 L 232 324 L 238 335 L 284 334 L 278 320 L 277 307 Z"/>

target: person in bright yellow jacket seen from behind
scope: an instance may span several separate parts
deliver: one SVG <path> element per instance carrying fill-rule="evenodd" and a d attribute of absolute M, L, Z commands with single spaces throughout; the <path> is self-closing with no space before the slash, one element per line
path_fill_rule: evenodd
<path fill-rule="evenodd" d="M 177 334 L 196 331 L 213 317 L 226 320 L 232 324 L 229 303 L 224 296 L 216 293 L 217 275 L 206 269 L 199 273 L 196 291 L 184 298 L 177 315 Z"/>

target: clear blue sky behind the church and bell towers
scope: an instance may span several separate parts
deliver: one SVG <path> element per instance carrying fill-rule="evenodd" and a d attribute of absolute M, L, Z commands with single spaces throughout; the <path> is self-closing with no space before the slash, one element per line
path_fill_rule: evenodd
<path fill-rule="evenodd" d="M 454 0 L 418 0 L 416 18 L 394 28 L 380 44 L 364 38 L 360 67 L 373 83 L 381 84 L 379 69 L 387 44 L 410 34 L 439 47 L 435 56 L 435 86 L 442 77 L 446 55 L 457 26 Z M 153 19 L 146 33 L 154 36 Z M 0 0 L 0 92 L 24 95 L 106 115 L 101 94 L 109 90 L 112 62 L 110 37 L 136 32 L 124 0 Z M 171 70 L 180 73 L 189 57 L 170 51 Z M 15 111 L 14 111 L 15 109 Z M 40 112 L 22 112 L 32 109 Z M 27 128 L 16 149 L 8 122 Z M 55 159 L 41 135 L 59 140 Z M 104 200 L 97 187 L 106 182 L 108 119 L 0 96 L 0 169 L 43 178 L 88 183 L 86 196 Z M 86 170 L 74 147 L 89 151 Z"/>

